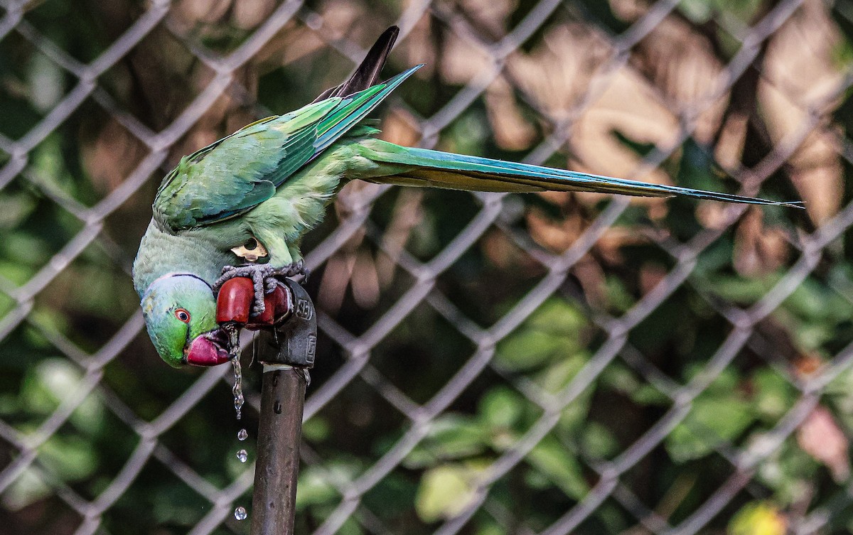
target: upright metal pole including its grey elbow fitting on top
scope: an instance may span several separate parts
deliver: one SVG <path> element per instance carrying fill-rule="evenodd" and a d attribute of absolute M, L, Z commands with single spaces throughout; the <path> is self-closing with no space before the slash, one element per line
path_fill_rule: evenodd
<path fill-rule="evenodd" d="M 292 535 L 299 443 L 308 370 L 314 365 L 316 314 L 301 285 L 284 281 L 287 316 L 264 334 L 258 462 L 252 494 L 252 535 Z"/>

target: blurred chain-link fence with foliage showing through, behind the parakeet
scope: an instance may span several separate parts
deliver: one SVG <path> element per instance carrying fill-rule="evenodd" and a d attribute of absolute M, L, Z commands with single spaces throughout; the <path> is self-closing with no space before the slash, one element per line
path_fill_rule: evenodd
<path fill-rule="evenodd" d="M 807 209 L 347 186 L 304 244 L 299 532 L 853 528 L 853 3 L 0 4 L 0 532 L 248 532 L 257 366 L 238 442 L 130 265 L 181 155 L 392 24 L 388 75 L 427 66 L 385 139 Z"/>

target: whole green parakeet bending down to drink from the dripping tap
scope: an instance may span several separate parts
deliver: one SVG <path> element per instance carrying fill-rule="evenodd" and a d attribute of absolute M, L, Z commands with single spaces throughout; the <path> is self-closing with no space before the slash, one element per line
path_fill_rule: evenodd
<path fill-rule="evenodd" d="M 285 115 L 247 125 L 181 159 L 154 198 L 133 279 L 148 334 L 173 366 L 229 360 L 216 324 L 223 279 L 255 281 L 254 312 L 270 278 L 302 269 L 299 241 L 347 181 L 467 191 L 587 191 L 651 197 L 682 195 L 750 204 L 789 204 L 685 187 L 647 184 L 488 158 L 400 147 L 363 124 L 375 106 L 420 66 L 386 82 L 379 72 L 397 37 L 386 31 L 345 83 Z M 796 204 L 796 203 L 794 203 Z M 232 249 L 257 240 L 269 262 L 232 268 Z"/>

